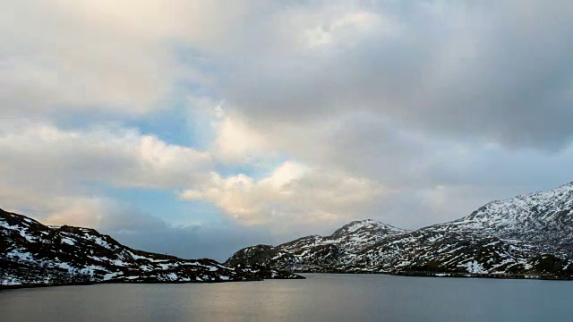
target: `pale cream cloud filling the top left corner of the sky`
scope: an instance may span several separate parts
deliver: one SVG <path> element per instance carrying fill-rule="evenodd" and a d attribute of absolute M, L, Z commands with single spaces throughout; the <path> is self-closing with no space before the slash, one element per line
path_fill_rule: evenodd
<path fill-rule="evenodd" d="M 22 1 L 4 8 L 1 115 L 141 114 L 167 94 L 170 54 L 84 5 Z"/>

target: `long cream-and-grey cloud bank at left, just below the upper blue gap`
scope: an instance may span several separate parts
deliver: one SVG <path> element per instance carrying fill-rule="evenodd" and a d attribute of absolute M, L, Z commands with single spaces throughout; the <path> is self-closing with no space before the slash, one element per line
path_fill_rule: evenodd
<path fill-rule="evenodd" d="M 175 188 L 210 168 L 208 153 L 167 144 L 133 129 L 62 130 L 51 123 L 4 123 L 4 182 L 49 190 L 81 182 Z"/>

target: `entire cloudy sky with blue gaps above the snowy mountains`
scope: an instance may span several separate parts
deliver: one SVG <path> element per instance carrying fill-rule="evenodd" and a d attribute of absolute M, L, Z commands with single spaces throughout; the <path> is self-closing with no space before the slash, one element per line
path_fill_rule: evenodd
<path fill-rule="evenodd" d="M 20 0 L 0 208 L 225 260 L 573 181 L 573 2 Z"/>

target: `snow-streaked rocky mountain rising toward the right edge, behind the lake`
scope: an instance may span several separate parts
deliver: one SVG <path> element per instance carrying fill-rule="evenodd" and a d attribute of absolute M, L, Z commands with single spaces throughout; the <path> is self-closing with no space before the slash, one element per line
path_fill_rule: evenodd
<path fill-rule="evenodd" d="M 293 272 L 573 279 L 573 183 L 493 201 L 471 215 L 406 231 L 355 221 L 335 233 L 239 250 L 226 265 Z"/>

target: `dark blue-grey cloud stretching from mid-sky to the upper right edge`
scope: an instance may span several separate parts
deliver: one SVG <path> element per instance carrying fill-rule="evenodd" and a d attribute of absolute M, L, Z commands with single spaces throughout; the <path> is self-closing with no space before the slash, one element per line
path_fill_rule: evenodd
<path fill-rule="evenodd" d="M 428 135 L 509 148 L 569 144 L 573 5 L 438 6 L 387 5 L 379 14 L 395 21 L 394 30 L 323 51 L 267 49 L 241 60 L 223 91 L 259 127 L 368 111 Z"/>

